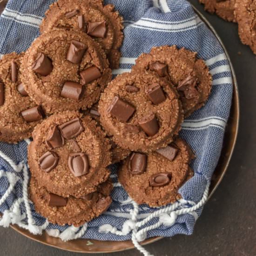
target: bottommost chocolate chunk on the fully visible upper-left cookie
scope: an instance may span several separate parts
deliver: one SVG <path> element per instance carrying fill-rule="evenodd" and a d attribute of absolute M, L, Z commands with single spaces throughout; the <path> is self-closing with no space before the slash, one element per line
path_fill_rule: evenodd
<path fill-rule="evenodd" d="M 80 83 L 66 81 L 61 90 L 61 96 L 64 98 L 79 101 L 83 91 L 83 86 Z"/>

